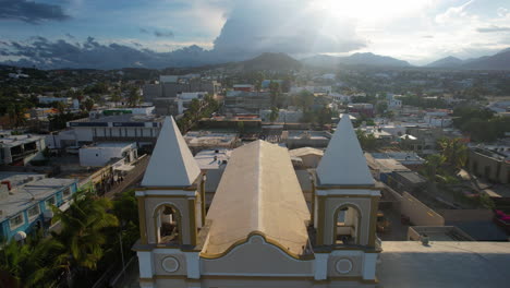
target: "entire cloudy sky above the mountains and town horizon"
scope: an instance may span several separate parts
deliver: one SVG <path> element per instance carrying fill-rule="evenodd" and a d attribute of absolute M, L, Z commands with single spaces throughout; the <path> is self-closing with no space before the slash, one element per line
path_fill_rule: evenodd
<path fill-rule="evenodd" d="M 0 0 L 0 61 L 13 63 L 369 51 L 424 64 L 508 47 L 509 0 Z"/>

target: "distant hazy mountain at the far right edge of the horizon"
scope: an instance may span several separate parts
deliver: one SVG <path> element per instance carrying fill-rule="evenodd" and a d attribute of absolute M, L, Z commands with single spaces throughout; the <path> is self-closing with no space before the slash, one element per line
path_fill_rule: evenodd
<path fill-rule="evenodd" d="M 434 61 L 426 67 L 472 70 L 510 70 L 510 48 L 503 49 L 493 56 L 483 56 L 466 60 L 461 60 L 450 56 Z"/>

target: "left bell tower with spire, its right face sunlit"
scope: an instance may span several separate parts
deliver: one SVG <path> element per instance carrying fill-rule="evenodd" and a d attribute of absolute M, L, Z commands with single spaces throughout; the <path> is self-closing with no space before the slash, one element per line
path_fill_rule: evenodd
<path fill-rule="evenodd" d="M 141 243 L 196 245 L 203 226 L 204 177 L 173 118 L 165 119 L 156 147 L 136 192 Z"/>

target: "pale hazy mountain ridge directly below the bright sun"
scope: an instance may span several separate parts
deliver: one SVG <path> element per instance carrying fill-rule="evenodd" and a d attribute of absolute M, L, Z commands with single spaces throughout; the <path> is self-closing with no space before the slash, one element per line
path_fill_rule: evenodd
<path fill-rule="evenodd" d="M 345 57 L 317 55 L 301 60 L 304 64 L 315 67 L 337 67 L 337 65 L 366 65 L 366 67 L 411 67 L 410 63 L 388 56 L 375 53 L 353 53 Z"/>

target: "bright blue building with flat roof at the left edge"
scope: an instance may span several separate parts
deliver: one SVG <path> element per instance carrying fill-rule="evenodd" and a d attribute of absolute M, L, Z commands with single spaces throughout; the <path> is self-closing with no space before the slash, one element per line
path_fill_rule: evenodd
<path fill-rule="evenodd" d="M 5 172 L 0 179 L 0 237 L 4 240 L 20 232 L 48 229 L 53 216 L 51 205 L 65 211 L 77 190 L 76 179 Z"/>

